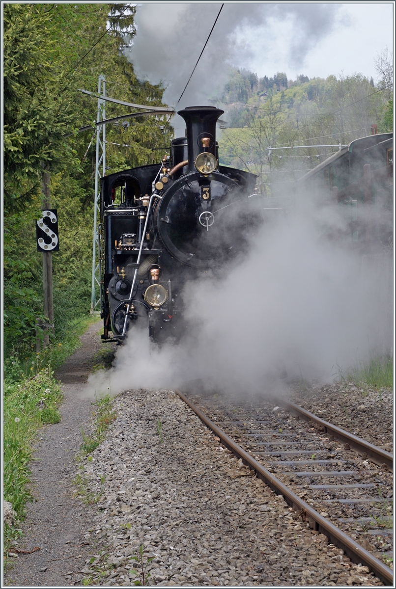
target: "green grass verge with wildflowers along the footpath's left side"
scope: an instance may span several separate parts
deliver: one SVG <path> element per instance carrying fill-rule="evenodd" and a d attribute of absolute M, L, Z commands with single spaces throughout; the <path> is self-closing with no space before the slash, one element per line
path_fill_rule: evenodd
<path fill-rule="evenodd" d="M 42 425 L 61 420 L 58 407 L 62 401 L 60 383 L 54 379 L 54 369 L 61 366 L 80 347 L 79 336 L 97 316 L 72 322 L 72 329 L 62 342 L 48 346 L 31 358 L 19 358 L 13 351 L 4 367 L 4 499 L 17 512 L 12 528 L 5 525 L 5 551 L 9 542 L 19 535 L 18 522 L 25 517 L 25 506 L 32 501 L 29 489 L 34 460 L 32 447 Z"/>

